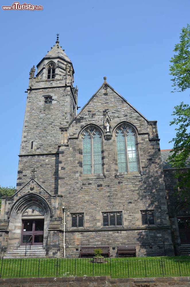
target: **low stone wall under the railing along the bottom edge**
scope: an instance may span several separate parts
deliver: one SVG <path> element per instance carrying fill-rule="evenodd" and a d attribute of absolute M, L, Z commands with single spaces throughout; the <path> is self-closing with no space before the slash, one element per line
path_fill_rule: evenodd
<path fill-rule="evenodd" d="M 153 278 L 110 278 L 101 277 L 63 277 L 63 278 L 13 278 L 0 279 L 3 287 L 189 287 L 189 277 Z"/>

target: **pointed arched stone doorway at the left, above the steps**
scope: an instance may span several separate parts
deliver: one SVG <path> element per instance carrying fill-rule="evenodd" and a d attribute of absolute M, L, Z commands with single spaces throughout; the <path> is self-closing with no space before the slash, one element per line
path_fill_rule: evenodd
<path fill-rule="evenodd" d="M 21 196 L 9 213 L 9 246 L 26 245 L 31 237 L 32 245 L 45 247 L 52 211 L 44 197 L 36 193 Z"/>

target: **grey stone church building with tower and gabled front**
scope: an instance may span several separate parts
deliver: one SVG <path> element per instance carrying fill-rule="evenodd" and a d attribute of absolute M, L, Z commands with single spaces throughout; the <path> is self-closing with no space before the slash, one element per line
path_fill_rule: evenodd
<path fill-rule="evenodd" d="M 108 246 L 110 257 L 119 246 L 135 246 L 137 256 L 183 254 L 190 205 L 175 194 L 157 121 L 106 77 L 77 114 L 73 75 L 57 36 L 30 70 L 17 191 L 2 199 L 1 256 L 18 256 L 28 242 L 46 257 L 76 258 L 82 246 Z"/>

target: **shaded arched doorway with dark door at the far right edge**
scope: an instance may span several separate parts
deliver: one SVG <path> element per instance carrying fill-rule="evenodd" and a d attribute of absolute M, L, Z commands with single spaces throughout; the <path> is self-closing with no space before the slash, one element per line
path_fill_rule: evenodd
<path fill-rule="evenodd" d="M 190 205 L 180 203 L 175 210 L 181 244 L 190 243 Z"/>

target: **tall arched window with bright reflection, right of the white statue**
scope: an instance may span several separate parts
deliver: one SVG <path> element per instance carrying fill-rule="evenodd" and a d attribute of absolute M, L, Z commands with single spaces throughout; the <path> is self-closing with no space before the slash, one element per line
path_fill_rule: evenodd
<path fill-rule="evenodd" d="M 125 124 L 116 130 L 118 172 L 138 171 L 135 133 Z"/>

